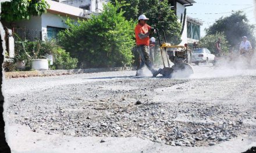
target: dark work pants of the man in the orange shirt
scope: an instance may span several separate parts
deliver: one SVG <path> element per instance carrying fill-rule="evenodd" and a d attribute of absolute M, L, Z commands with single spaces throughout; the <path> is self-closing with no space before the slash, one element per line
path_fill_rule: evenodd
<path fill-rule="evenodd" d="M 152 72 L 152 74 L 155 72 L 153 64 L 150 60 L 150 55 L 148 54 L 149 52 L 149 46 L 146 45 L 138 45 L 137 46 L 137 52 L 140 54 L 141 57 L 141 64 L 140 64 L 140 69 L 143 67 L 145 64 L 147 68 Z"/>

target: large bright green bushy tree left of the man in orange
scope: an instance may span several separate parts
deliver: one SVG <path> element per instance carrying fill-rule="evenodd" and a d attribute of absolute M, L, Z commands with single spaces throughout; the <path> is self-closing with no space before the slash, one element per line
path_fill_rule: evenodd
<path fill-rule="evenodd" d="M 87 67 L 130 65 L 135 23 L 127 21 L 119 8 L 119 3 L 108 3 L 101 14 L 89 20 L 76 23 L 67 19 L 69 29 L 59 33 L 59 44 Z"/>

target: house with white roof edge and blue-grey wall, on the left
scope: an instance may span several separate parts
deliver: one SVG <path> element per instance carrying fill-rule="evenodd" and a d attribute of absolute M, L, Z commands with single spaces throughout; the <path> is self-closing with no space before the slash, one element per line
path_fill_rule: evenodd
<path fill-rule="evenodd" d="M 44 40 L 55 38 L 59 31 L 65 30 L 66 17 L 70 19 L 89 19 L 90 14 L 102 12 L 104 1 L 101 0 L 46 0 L 50 5 L 47 13 L 33 16 L 30 20 L 17 21 L 12 30 L 21 38 Z"/>

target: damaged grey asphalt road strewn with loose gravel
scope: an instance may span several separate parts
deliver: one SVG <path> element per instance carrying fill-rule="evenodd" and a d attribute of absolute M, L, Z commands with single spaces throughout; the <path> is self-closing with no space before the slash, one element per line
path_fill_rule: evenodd
<path fill-rule="evenodd" d="M 49 135 L 138 137 L 182 147 L 256 137 L 254 70 L 193 79 L 134 74 L 6 79 L 7 124 Z"/>

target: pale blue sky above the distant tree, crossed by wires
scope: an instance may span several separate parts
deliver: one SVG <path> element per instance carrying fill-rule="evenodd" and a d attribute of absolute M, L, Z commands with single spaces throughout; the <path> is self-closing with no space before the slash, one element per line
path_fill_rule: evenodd
<path fill-rule="evenodd" d="M 201 20 L 201 37 L 205 35 L 205 28 L 208 28 L 220 17 L 230 16 L 232 10 L 243 10 L 250 20 L 250 24 L 256 25 L 255 9 L 256 0 L 194 0 L 193 6 L 187 7 L 187 16 Z M 207 14 L 208 13 L 208 14 Z M 212 13 L 212 14 L 209 14 Z"/>

